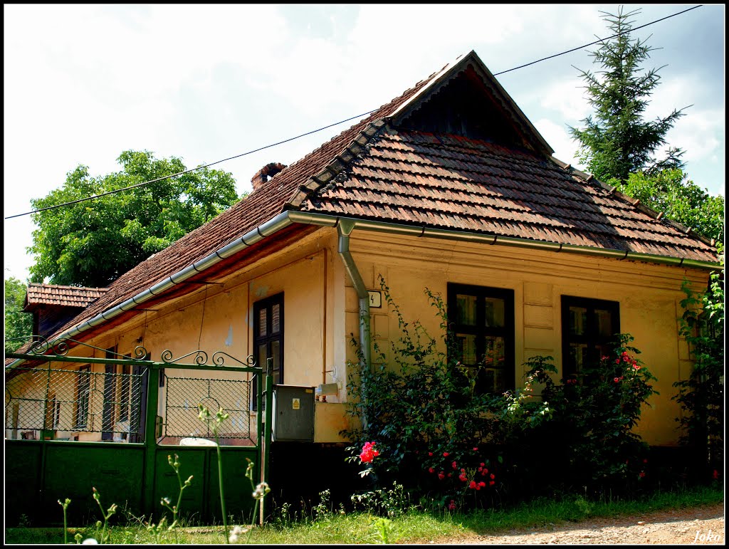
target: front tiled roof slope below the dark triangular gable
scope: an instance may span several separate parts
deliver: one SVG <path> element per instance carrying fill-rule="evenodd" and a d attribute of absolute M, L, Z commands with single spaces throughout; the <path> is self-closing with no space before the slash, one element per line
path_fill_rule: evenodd
<path fill-rule="evenodd" d="M 338 176 L 300 198 L 300 210 L 447 230 L 716 261 L 635 200 L 545 157 L 498 144 L 386 125 Z"/>

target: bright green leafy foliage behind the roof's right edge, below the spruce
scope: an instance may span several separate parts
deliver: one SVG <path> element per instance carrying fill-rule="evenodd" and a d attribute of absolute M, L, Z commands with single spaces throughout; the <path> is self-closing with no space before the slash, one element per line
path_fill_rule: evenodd
<path fill-rule="evenodd" d="M 707 238 L 724 241 L 724 197 L 709 195 L 677 168 L 652 176 L 630 174 L 620 190 Z"/>

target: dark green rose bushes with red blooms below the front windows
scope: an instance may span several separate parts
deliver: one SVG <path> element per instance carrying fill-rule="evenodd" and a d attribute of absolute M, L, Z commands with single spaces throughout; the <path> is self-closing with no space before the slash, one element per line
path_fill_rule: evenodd
<path fill-rule="evenodd" d="M 647 446 L 632 429 L 655 378 L 628 346 L 630 335 L 617 335 L 613 355 L 564 383 L 555 383 L 551 357 L 533 357 L 522 387 L 481 394 L 478 372 L 448 352 L 453 338 L 440 295 L 425 290 L 440 318 L 438 346 L 419 321 L 405 321 L 382 277 L 380 285 L 399 338 L 389 362 L 375 344 L 379 365 L 350 365 L 349 413 L 362 428 L 348 432 L 356 441 L 351 459 L 375 443 L 375 457 L 359 459 L 376 486 L 397 481 L 413 499 L 455 510 L 555 490 L 617 493 L 644 482 Z"/>

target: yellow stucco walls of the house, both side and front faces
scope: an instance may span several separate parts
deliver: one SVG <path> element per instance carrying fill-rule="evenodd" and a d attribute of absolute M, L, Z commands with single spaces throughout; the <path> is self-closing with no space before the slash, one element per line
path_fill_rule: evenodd
<path fill-rule="evenodd" d="M 336 383 L 338 394 L 317 403 L 316 440 L 340 440 L 342 402 L 346 402 L 347 364 L 356 362 L 351 335 L 359 338 L 359 305 L 338 254 L 337 232 L 322 228 L 284 251 L 200 286 L 173 302 L 92 340 L 106 349 L 129 353 L 141 343 L 160 360 L 202 349 L 243 359 L 253 352 L 252 312 L 257 300 L 284 292 L 284 383 L 316 387 Z M 438 337 L 440 320 L 424 289 L 445 298 L 449 282 L 512 289 L 515 296 L 515 378 L 523 379 L 523 362 L 542 354 L 561 365 L 562 295 L 620 303 L 620 328 L 634 335 L 634 346 L 658 377 L 660 396 L 644 408 L 639 432 L 653 445 L 677 442 L 679 409 L 671 386 L 686 375 L 685 342 L 679 340 L 677 317 L 684 277 L 697 289 L 706 286 L 701 271 L 642 262 L 547 252 L 516 246 L 488 246 L 434 238 L 416 238 L 354 230 L 350 249 L 368 289 L 380 289 L 381 274 L 406 319 L 420 320 Z M 383 351 L 397 338 L 397 319 L 386 303 L 372 308 L 372 333 Z M 184 362 L 192 362 L 192 357 Z M 210 363 L 210 362 L 208 362 Z M 235 362 L 228 360 L 230 365 Z M 96 366 L 95 368 L 103 367 Z M 219 371 L 166 370 L 167 375 L 241 378 Z M 157 413 L 163 415 L 164 392 Z M 327 405 L 329 408 L 325 409 Z M 254 416 L 254 413 L 252 413 Z M 254 424 L 255 422 L 252 421 Z M 326 439 L 326 440 L 324 440 Z"/>

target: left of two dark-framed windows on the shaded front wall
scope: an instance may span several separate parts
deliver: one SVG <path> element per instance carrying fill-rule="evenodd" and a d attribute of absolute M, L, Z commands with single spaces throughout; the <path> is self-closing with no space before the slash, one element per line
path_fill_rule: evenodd
<path fill-rule="evenodd" d="M 476 391 L 514 389 L 514 292 L 448 284 L 450 352 L 476 373 Z"/>

